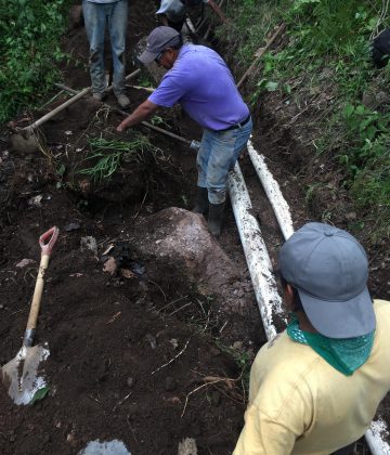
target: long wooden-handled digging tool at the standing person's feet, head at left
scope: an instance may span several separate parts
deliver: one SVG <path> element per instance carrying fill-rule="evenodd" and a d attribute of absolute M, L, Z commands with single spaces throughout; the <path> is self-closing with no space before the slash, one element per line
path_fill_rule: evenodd
<path fill-rule="evenodd" d="M 135 77 L 141 69 L 136 69 L 135 72 L 131 73 L 130 75 L 126 76 L 125 80 L 128 81 Z M 65 103 L 61 104 L 60 106 L 55 107 L 50 113 L 46 114 L 43 117 L 36 120 L 34 123 L 29 125 L 28 127 L 22 128 L 13 134 L 11 138 L 11 142 L 13 144 L 13 147 L 16 148 L 20 152 L 34 152 L 36 150 L 39 150 L 40 142 L 39 142 L 39 135 L 37 134 L 38 128 L 53 118 L 55 115 L 61 113 L 62 110 L 66 109 L 66 107 L 70 106 L 72 104 L 76 103 L 76 101 L 80 100 L 80 98 L 84 96 L 86 94 L 90 93 L 92 90 L 91 87 L 88 87 L 80 92 L 77 92 L 75 96 L 73 96 L 70 100 L 67 100 Z M 109 92 L 113 90 L 113 86 L 108 87 L 106 92 Z"/>

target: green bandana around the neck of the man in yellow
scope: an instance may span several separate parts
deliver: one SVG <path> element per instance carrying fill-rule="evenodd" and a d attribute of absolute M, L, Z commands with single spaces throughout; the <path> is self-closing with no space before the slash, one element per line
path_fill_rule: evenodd
<path fill-rule="evenodd" d="M 297 316 L 291 313 L 287 325 L 288 336 L 297 342 L 309 344 L 329 365 L 346 376 L 351 376 L 368 359 L 374 344 L 374 333 L 355 338 L 327 338 L 299 328 Z"/>

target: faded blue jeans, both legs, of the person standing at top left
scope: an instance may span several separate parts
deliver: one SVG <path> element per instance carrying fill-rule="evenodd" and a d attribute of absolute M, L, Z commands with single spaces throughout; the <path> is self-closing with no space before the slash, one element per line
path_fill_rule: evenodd
<path fill-rule="evenodd" d="M 82 0 L 88 41 L 90 43 L 90 74 L 92 93 L 103 94 L 104 78 L 104 32 L 108 24 L 113 52 L 114 77 L 113 89 L 118 96 L 125 93 L 125 49 L 128 17 L 128 0 L 115 3 L 92 3 Z"/>

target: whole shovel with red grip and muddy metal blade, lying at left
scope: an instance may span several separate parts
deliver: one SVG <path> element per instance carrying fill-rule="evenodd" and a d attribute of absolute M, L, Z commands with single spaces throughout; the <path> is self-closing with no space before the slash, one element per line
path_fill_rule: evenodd
<path fill-rule="evenodd" d="M 40 363 L 48 359 L 50 352 L 47 344 L 32 346 L 32 342 L 43 291 L 44 272 L 57 236 L 58 227 L 54 226 L 39 237 L 41 261 L 23 344 L 15 358 L 1 368 L 2 382 L 17 405 L 30 403 L 35 394 L 46 387 L 44 379 L 37 377 L 37 374 Z"/>

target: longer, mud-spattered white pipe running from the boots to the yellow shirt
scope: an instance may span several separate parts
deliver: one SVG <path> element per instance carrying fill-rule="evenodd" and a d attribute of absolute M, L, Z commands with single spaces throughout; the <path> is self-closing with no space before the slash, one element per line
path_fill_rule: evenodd
<path fill-rule="evenodd" d="M 282 324 L 285 324 L 282 299 L 277 292 L 272 263 L 258 221 L 252 213 L 250 197 L 238 164 L 229 177 L 227 187 L 256 300 L 266 338 L 270 340 L 277 334 L 274 318 L 277 317 Z"/>

